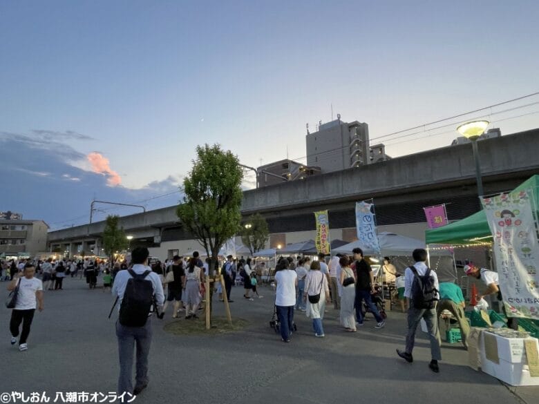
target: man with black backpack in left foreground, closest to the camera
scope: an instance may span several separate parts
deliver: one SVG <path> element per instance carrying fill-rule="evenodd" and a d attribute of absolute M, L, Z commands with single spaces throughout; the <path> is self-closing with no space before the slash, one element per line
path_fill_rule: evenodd
<path fill-rule="evenodd" d="M 148 354 L 151 345 L 151 315 L 162 307 L 164 293 L 157 273 L 148 267 L 150 253 L 144 247 L 131 252 L 133 268 L 117 273 L 113 296 L 120 301 L 120 316 L 116 336 L 120 354 L 118 393 L 140 394 L 148 385 Z M 133 389 L 133 351 L 137 346 L 136 383 Z"/>

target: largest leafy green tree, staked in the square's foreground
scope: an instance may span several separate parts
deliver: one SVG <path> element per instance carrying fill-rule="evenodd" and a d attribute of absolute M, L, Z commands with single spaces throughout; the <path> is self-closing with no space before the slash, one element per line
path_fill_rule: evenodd
<path fill-rule="evenodd" d="M 220 248 L 240 229 L 242 180 L 243 169 L 231 151 L 223 151 L 218 144 L 197 146 L 193 168 L 183 182 L 183 203 L 176 213 L 211 259 L 210 276 L 216 271 Z"/>

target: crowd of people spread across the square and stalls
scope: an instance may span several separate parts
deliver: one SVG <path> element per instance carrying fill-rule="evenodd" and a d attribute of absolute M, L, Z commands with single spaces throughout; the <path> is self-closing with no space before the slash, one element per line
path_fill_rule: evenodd
<path fill-rule="evenodd" d="M 2 262 L 3 278 L 10 278 L 8 290 L 19 289 L 17 305 L 12 307 L 10 320 L 11 343 L 15 345 L 19 338 L 19 350 L 28 349 L 27 338 L 36 309 L 44 309 L 44 290 L 62 290 L 66 276 L 86 277 L 90 289 L 97 286 L 97 278 L 102 274 L 103 290 L 120 302 L 116 334 L 120 351 L 119 392 L 140 394 L 148 384 L 148 353 L 151 345 L 151 315 L 162 309 L 160 318 L 168 307 L 172 307 L 172 317 L 177 318 L 180 311 L 185 311 L 185 319 L 198 318 L 205 296 L 205 278 L 209 273 L 209 259 L 202 262 L 198 252 L 191 257 L 174 256 L 171 260 L 149 262 L 149 251 L 136 248 L 132 251 L 132 260 L 106 262 L 101 260 L 21 260 L 20 262 Z M 356 332 L 366 321 L 366 313 L 375 317 L 375 329 L 386 325 L 384 307 L 377 304 L 379 290 L 375 285 L 375 276 L 369 260 L 359 248 L 352 251 L 352 256 L 337 254 L 325 261 L 319 254 L 317 260 L 308 257 L 281 257 L 276 262 L 274 273 L 275 309 L 279 331 L 283 342 L 290 343 L 295 329 L 294 309 L 305 312 L 312 320 L 312 332 L 316 338 L 323 338 L 325 331 L 323 318 L 331 302 L 339 310 L 339 322 L 346 332 Z M 438 360 L 442 358 L 441 338 L 438 318 L 443 311 L 449 311 L 458 321 L 462 330 L 462 343 L 466 345 L 469 325 L 464 318 L 464 297 L 460 287 L 453 283 L 438 282 L 435 271 L 426 265 L 426 251 L 413 251 L 415 264 L 406 268 L 404 274 L 397 272 L 384 258 L 384 271 L 389 274 L 390 282 L 395 282 L 401 309 L 408 311 L 408 331 L 404 350 L 397 349 L 397 354 L 409 363 L 413 363 L 415 332 L 419 322 L 424 320 L 431 343 L 431 363 L 433 372 L 439 372 Z M 260 274 L 251 268 L 252 260 L 243 257 L 235 260 L 227 256 L 218 273 L 223 276 L 216 282 L 216 291 L 220 300 L 231 300 L 232 286 L 243 283 L 243 297 L 249 301 L 258 295 L 257 285 Z M 8 267 L 9 271 L 6 271 Z M 487 294 L 499 294 L 497 279 L 488 271 L 469 267 L 469 276 L 485 278 Z M 35 277 L 39 273 L 42 280 Z M 144 284 L 144 281 L 149 281 Z M 386 278 L 388 280 L 388 278 Z M 146 285 L 145 289 L 141 285 Z M 418 286 L 419 285 L 419 286 Z M 21 328 L 22 324 L 22 329 Z M 136 347 L 135 387 L 131 381 L 133 352 Z"/>

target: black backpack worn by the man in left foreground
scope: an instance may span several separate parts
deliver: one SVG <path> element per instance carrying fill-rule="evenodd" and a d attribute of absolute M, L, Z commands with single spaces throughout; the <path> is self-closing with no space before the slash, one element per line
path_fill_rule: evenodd
<path fill-rule="evenodd" d="M 148 320 L 153 305 L 153 283 L 146 280 L 151 271 L 144 271 L 140 275 L 129 269 L 131 279 L 127 281 L 120 305 L 120 324 L 126 327 L 143 327 Z"/>

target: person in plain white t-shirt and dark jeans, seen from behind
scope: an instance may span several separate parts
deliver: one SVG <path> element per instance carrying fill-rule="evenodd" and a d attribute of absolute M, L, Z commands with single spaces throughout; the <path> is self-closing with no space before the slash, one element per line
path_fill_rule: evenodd
<path fill-rule="evenodd" d="M 283 342 L 290 343 L 290 335 L 292 335 L 294 325 L 294 305 L 296 303 L 298 276 L 296 271 L 288 269 L 286 259 L 279 261 L 276 265 L 275 283 L 277 284 L 275 305 L 279 323 L 281 323 L 281 338 Z"/>

